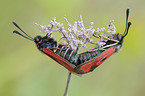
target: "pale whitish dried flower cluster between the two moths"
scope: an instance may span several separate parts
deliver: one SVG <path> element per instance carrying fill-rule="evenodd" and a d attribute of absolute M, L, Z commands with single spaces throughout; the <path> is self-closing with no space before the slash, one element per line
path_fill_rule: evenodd
<path fill-rule="evenodd" d="M 47 26 L 42 26 L 37 23 L 36 25 L 41 27 L 40 32 L 47 32 L 50 36 L 52 36 L 53 32 L 60 32 L 62 34 L 61 39 L 65 40 L 63 43 L 68 44 L 72 49 L 77 51 L 81 47 L 86 47 L 86 43 L 91 43 L 93 41 L 91 39 L 93 36 L 100 38 L 96 46 L 101 47 L 105 45 L 103 41 L 106 39 L 104 37 L 111 39 L 112 35 L 116 32 L 116 28 L 112 23 L 114 20 L 110 21 L 110 24 L 107 25 L 107 30 L 104 27 L 95 30 L 93 28 L 93 22 L 90 23 L 89 28 L 84 26 L 82 15 L 80 15 L 80 21 L 75 21 L 74 24 L 70 24 L 66 16 L 64 16 L 64 19 L 68 25 L 67 30 L 65 30 L 63 24 L 57 22 L 55 18 L 53 18 Z"/>

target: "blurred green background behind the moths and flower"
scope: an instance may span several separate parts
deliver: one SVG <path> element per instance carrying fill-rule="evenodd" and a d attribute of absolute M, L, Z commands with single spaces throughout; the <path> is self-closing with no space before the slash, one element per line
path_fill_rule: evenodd
<path fill-rule="evenodd" d="M 132 26 L 124 46 L 92 73 L 73 75 L 69 96 L 145 96 L 145 0 L 1 0 L 0 96 L 63 96 L 68 75 L 34 42 L 13 34 L 13 20 L 32 37 L 45 35 L 35 22 L 47 25 L 56 17 L 65 23 L 64 14 L 72 23 L 82 14 L 95 28 L 115 20 L 123 33 L 126 8 Z"/>

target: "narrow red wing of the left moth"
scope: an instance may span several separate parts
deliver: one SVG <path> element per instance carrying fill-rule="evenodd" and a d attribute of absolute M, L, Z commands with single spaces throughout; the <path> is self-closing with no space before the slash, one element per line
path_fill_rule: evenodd
<path fill-rule="evenodd" d="M 55 54 L 54 52 L 52 52 L 49 49 L 43 48 L 43 52 L 45 54 L 47 54 L 49 57 L 51 57 L 53 60 L 55 60 L 56 62 L 58 62 L 59 64 L 61 64 L 65 68 L 67 68 L 70 72 L 75 73 L 75 72 L 73 72 L 75 65 L 70 64 L 69 62 L 67 62 L 62 57 L 58 56 L 57 54 Z"/>

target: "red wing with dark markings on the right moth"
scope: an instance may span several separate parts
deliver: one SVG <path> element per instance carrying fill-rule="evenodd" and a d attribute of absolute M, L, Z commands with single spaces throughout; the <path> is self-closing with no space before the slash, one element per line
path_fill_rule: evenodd
<path fill-rule="evenodd" d="M 93 71 L 97 66 L 99 66 L 108 57 L 110 57 L 115 51 L 116 51 L 115 47 L 111 47 L 111 48 L 107 49 L 106 51 L 104 51 L 99 56 L 93 58 L 92 60 L 89 60 L 88 62 L 77 66 L 78 69 L 76 68 L 75 70 L 77 70 L 78 72 L 81 72 L 80 74 L 87 73 L 89 71 Z"/>

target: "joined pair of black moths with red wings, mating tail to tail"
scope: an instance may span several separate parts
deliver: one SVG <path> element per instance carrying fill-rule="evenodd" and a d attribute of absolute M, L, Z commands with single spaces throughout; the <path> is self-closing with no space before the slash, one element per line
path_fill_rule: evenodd
<path fill-rule="evenodd" d="M 51 57 L 53 60 L 67 68 L 70 72 L 74 74 L 85 74 L 93 71 L 102 62 L 109 58 L 112 54 L 116 53 L 123 44 L 124 37 L 128 34 L 131 22 L 128 22 L 129 9 L 126 10 L 126 28 L 124 34 L 113 34 L 113 39 L 103 37 L 106 40 L 105 45 L 101 48 L 93 48 L 86 52 L 78 54 L 75 50 L 71 49 L 69 46 L 65 46 L 57 42 L 54 38 L 49 36 L 36 36 L 32 38 L 27 33 L 25 33 L 14 21 L 13 24 L 22 31 L 21 34 L 18 31 L 13 31 L 28 40 L 34 41 L 37 48 L 44 54 Z M 94 36 L 96 37 L 96 36 Z"/>

